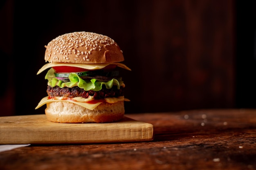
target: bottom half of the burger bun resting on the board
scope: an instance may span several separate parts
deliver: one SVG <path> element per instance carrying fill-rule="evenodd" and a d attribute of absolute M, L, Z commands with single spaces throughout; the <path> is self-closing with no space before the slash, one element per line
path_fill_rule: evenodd
<path fill-rule="evenodd" d="M 59 123 L 115 122 L 124 117 L 124 101 L 103 102 L 93 110 L 70 102 L 50 102 L 45 115 L 49 121 Z"/>

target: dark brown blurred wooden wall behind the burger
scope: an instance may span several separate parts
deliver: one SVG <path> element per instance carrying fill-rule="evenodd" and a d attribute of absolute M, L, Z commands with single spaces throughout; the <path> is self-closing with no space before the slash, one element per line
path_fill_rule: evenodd
<path fill-rule="evenodd" d="M 254 1 L 1 1 L 1 116 L 40 114 L 45 45 L 101 33 L 124 52 L 126 113 L 256 107 Z"/>

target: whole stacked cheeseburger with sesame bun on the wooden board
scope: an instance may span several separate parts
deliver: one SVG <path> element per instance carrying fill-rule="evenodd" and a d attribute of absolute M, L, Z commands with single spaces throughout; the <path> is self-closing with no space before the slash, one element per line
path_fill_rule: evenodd
<path fill-rule="evenodd" d="M 105 35 L 73 32 L 45 46 L 47 94 L 36 109 L 46 105 L 49 121 L 60 123 L 115 122 L 124 117 L 125 84 L 120 69 L 130 70 L 118 44 Z"/>

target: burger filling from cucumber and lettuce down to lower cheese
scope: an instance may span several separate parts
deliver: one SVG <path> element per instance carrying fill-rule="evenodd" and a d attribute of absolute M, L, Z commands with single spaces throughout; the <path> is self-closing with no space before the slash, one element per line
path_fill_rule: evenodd
<path fill-rule="evenodd" d="M 55 101 L 72 102 L 91 110 L 102 102 L 129 101 L 124 98 L 125 85 L 117 70 L 57 72 L 50 68 L 45 79 L 48 80 L 48 96 L 39 102 L 36 109 Z"/>

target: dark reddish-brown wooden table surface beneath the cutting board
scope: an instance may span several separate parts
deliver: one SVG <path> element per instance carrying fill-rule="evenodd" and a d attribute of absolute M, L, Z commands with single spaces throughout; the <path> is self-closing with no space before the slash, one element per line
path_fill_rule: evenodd
<path fill-rule="evenodd" d="M 256 109 L 126 114 L 154 125 L 150 142 L 30 145 L 0 153 L 1 170 L 256 169 Z"/>

